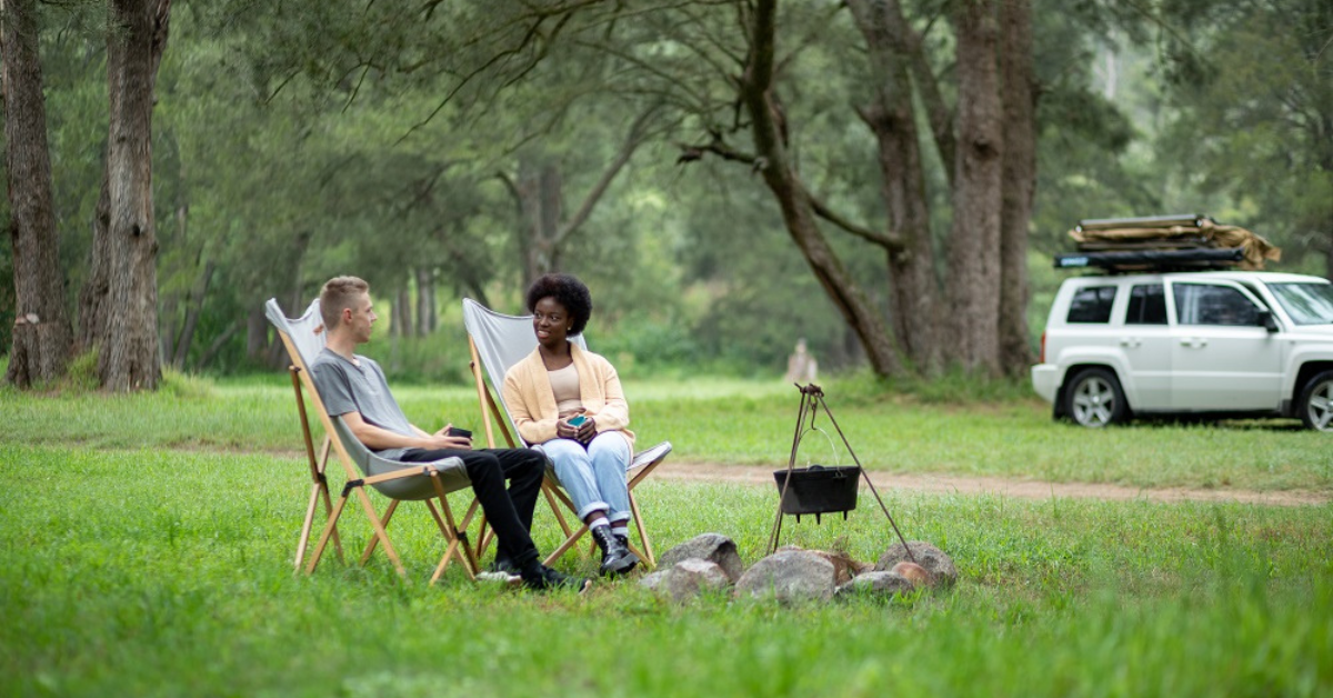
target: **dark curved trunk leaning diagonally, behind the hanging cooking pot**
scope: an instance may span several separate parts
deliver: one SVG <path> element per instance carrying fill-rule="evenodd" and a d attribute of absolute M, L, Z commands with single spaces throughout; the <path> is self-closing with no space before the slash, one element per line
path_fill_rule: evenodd
<path fill-rule="evenodd" d="M 741 99 L 750 115 L 750 133 L 757 153 L 756 165 L 764 183 L 778 202 L 782 222 L 792 242 L 838 308 L 848 326 L 856 331 L 865 347 L 870 368 L 877 375 L 893 375 L 901 362 L 893 342 L 880 322 L 878 311 L 857 288 L 841 260 L 828 244 L 816 223 L 814 206 L 800 182 L 786 152 L 780 127 L 777 104 L 773 97 L 773 55 L 777 0 L 760 0 L 754 5 L 750 27 L 750 55 L 741 76 Z"/>

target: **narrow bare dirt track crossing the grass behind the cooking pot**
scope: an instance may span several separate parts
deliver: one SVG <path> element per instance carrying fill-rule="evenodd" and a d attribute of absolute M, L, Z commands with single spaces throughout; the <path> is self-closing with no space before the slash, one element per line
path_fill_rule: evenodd
<path fill-rule="evenodd" d="M 734 482 L 742 484 L 773 486 L 773 468 L 758 466 L 720 466 L 714 463 L 676 463 L 666 460 L 657 467 L 656 478 L 700 482 Z M 1189 490 L 1168 487 L 1144 490 L 1118 484 L 1060 483 L 989 476 L 958 475 L 894 475 L 870 472 L 870 480 L 881 490 L 910 490 L 934 494 L 996 494 L 1021 499 L 1145 499 L 1149 502 L 1241 502 L 1268 506 L 1317 506 L 1333 502 L 1330 492 L 1253 490 Z"/>

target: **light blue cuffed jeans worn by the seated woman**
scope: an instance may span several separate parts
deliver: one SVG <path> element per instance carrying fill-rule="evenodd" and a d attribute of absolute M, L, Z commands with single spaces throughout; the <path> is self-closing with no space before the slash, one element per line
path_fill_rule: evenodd
<path fill-rule="evenodd" d="M 612 523 L 629 520 L 629 442 L 619 431 L 599 434 L 584 450 L 573 439 L 551 439 L 541 444 L 556 466 L 556 478 L 569 492 L 579 520 L 593 511 L 605 510 Z"/>

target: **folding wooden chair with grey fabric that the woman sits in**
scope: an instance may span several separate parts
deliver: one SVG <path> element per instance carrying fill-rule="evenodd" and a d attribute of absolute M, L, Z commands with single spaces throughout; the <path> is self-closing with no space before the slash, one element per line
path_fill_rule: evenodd
<path fill-rule="evenodd" d="M 496 446 L 496 436 L 492 428 L 493 419 L 500 427 L 505 443 L 511 447 L 517 446 L 519 430 L 509 416 L 509 410 L 504 407 L 503 386 L 505 372 L 509 371 L 509 367 L 523 360 L 524 356 L 537 347 L 537 338 L 532 332 L 532 316 L 503 315 L 471 298 L 465 298 L 463 299 L 463 323 L 468 328 L 468 346 L 472 350 L 472 378 L 477 384 L 477 402 L 481 406 L 481 422 L 487 432 L 487 444 L 492 448 Z M 572 338 L 571 342 L 577 343 L 584 350 L 588 348 L 583 335 Z M 481 376 L 483 367 L 485 367 L 489 384 Z M 536 447 L 536 444 L 528 446 Z M 639 508 L 639 500 L 635 498 L 635 487 L 661 464 L 668 454 L 670 454 L 670 442 L 661 442 L 647 451 L 640 451 L 635 454 L 625 474 L 629 484 L 629 508 L 635 516 L 635 527 L 639 530 L 639 541 L 643 543 L 643 550 L 633 545 L 629 547 L 649 567 L 656 566 L 657 559 L 653 557 L 653 545 L 648 537 L 648 530 L 644 527 L 644 516 Z M 547 482 L 543 483 L 543 491 L 547 495 L 547 502 L 551 504 L 552 512 L 556 515 L 556 520 L 560 523 L 560 529 L 565 533 L 565 542 L 552 551 L 545 561 L 545 565 L 551 565 L 588 533 L 588 526 L 579 522 L 579 529 L 571 529 L 565 522 L 561 514 L 561 504 L 571 512 L 575 512 L 575 520 L 577 520 L 577 508 L 559 487 L 559 480 L 555 478 L 552 468 L 547 468 Z M 556 503 L 557 499 L 560 504 Z"/>

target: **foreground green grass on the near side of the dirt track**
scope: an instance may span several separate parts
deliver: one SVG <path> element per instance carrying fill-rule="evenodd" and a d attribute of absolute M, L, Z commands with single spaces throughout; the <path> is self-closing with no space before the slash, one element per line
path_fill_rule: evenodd
<path fill-rule="evenodd" d="M 0 693 L 9 695 L 1317 695 L 1333 689 L 1329 507 L 890 496 L 953 590 L 784 609 L 677 607 L 632 581 L 585 598 L 424 581 L 397 522 L 379 557 L 291 574 L 304 486 L 271 455 L 5 444 Z M 764 488 L 652 483 L 660 546 L 761 555 Z M 345 545 L 365 526 L 351 518 Z M 549 549 L 553 526 L 537 523 Z M 886 547 L 868 507 L 784 542 Z M 589 561 L 565 561 L 567 570 Z"/>

